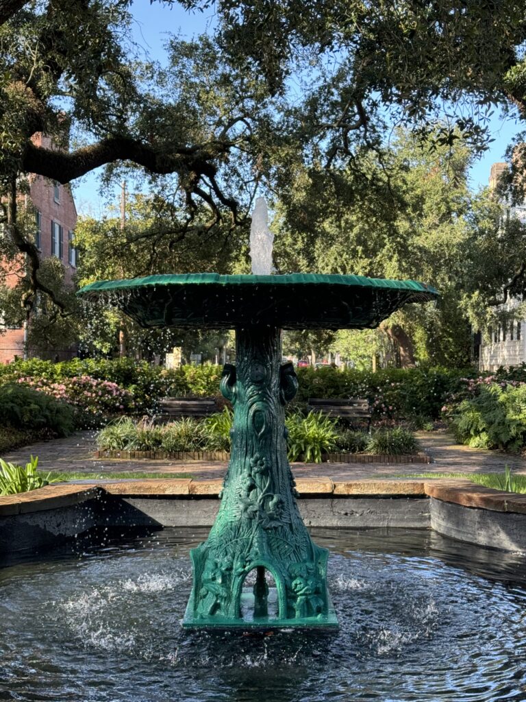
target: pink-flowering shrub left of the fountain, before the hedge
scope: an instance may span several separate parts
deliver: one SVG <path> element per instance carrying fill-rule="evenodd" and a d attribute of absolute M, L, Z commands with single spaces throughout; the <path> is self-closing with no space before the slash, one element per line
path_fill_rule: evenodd
<path fill-rule="evenodd" d="M 18 383 L 45 392 L 92 416 L 115 415 L 133 410 L 133 395 L 129 390 L 109 380 L 90 376 L 64 378 L 55 383 L 47 378 L 18 378 Z"/>

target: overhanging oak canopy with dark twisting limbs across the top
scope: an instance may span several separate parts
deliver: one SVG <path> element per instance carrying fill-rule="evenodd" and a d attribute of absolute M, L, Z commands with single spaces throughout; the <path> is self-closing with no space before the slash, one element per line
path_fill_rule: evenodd
<path fill-rule="evenodd" d="M 190 11 L 215 5 L 180 4 Z M 519 0 L 222 0 L 217 29 L 195 41 L 170 39 L 165 66 L 144 60 L 131 41 L 130 6 L 0 0 L 0 183 L 9 196 L 4 224 L 28 260 L 27 313 L 39 289 L 67 307 L 46 285 L 39 253 L 18 225 L 15 190 L 27 173 L 65 183 L 97 166 L 107 166 L 108 178 L 139 169 L 177 206 L 173 246 L 243 226 L 258 184 L 279 194 L 283 216 L 297 216 L 298 229 L 323 222 L 326 237 L 331 216 L 337 231 L 338 208 L 344 221 L 358 204 L 373 216 L 383 197 L 383 259 L 364 239 L 356 267 L 371 269 L 370 258 L 373 274 L 389 274 L 403 272 L 407 256 L 442 255 L 425 242 L 407 251 L 407 237 L 396 234 L 412 222 L 400 218 L 407 192 L 389 155 L 393 127 L 428 149 L 452 152 L 458 142 L 476 153 L 487 146 L 495 107 L 526 117 Z M 36 133 L 52 136 L 55 147 L 36 145 Z M 515 171 L 520 164 L 515 159 Z M 298 206 L 290 183 L 301 178 L 309 183 L 299 192 L 307 188 L 311 198 Z M 326 192 L 337 197 L 321 216 Z M 447 216 L 455 230 L 455 212 L 440 212 L 440 232 Z M 337 242 L 329 250 L 335 263 Z M 300 270 L 313 262 L 309 249 L 302 256 Z M 317 265 L 337 267 L 318 258 Z M 499 283 L 519 286 L 524 268 L 509 256 L 499 260 L 506 260 Z"/>

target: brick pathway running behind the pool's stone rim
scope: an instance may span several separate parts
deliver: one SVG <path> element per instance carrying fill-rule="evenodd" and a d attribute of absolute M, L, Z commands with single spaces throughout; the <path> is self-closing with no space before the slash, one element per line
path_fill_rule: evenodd
<path fill-rule="evenodd" d="M 470 449 L 454 443 L 447 432 L 417 432 L 422 447 L 433 457 L 429 465 L 422 463 L 294 463 L 297 477 L 327 476 L 334 480 L 417 475 L 422 472 L 501 472 L 506 465 L 526 474 L 526 460 L 495 451 Z M 75 472 L 165 472 L 184 473 L 198 479 L 214 479 L 224 475 L 226 463 L 208 461 L 150 461 L 147 459 L 93 458 L 95 432 L 77 432 L 66 439 L 39 442 L 2 456 L 6 461 L 25 463 L 29 455 L 39 457 L 39 468 Z"/>

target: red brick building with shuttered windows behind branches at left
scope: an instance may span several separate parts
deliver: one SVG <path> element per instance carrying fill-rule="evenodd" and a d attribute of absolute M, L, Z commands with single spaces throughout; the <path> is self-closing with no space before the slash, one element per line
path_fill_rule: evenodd
<path fill-rule="evenodd" d="M 53 148 L 53 143 L 45 135 L 35 135 L 36 145 Z M 65 282 L 73 284 L 76 272 L 77 253 L 72 245 L 73 232 L 76 225 L 76 207 L 69 185 L 60 185 L 42 176 L 29 176 L 29 194 L 20 197 L 20 208 L 32 206 L 35 215 L 35 244 L 42 258 L 56 256 L 65 267 Z M 6 278 L 6 284 L 14 287 L 23 274 L 23 259 L 11 265 L 12 272 Z M 1 312 L 1 310 L 0 310 Z M 15 357 L 25 356 L 25 329 L 2 328 L 0 324 L 0 363 L 8 363 Z M 29 348 L 29 357 L 36 355 Z M 39 355 L 41 355 L 39 353 Z M 48 352 L 48 357 L 67 359 L 75 355 L 72 348 L 57 348 Z"/>

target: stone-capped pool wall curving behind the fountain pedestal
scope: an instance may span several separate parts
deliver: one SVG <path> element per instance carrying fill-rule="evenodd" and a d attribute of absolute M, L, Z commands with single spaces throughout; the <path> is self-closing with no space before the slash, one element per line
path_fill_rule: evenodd
<path fill-rule="evenodd" d="M 467 479 L 297 478 L 308 527 L 433 529 L 475 545 L 526 552 L 526 495 Z M 210 527 L 222 480 L 101 479 L 0 497 L 0 555 L 40 552 L 100 526 Z"/>

